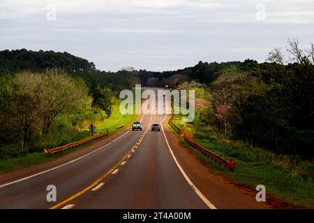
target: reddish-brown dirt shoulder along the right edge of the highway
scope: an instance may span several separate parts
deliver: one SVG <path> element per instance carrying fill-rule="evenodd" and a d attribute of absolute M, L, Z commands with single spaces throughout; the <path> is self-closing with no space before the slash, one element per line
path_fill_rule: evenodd
<path fill-rule="evenodd" d="M 174 155 L 190 180 L 217 208 L 274 208 L 268 202 L 257 202 L 255 191 L 235 184 L 223 174 L 212 173 L 207 164 L 181 144 L 179 136 L 168 128 L 169 119 L 170 116 L 163 123 L 163 128 Z"/>

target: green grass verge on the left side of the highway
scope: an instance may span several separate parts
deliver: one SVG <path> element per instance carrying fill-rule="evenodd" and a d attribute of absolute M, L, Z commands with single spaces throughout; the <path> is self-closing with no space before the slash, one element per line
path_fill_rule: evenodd
<path fill-rule="evenodd" d="M 115 105 L 112 107 L 112 115 L 109 118 L 106 118 L 104 121 L 98 121 L 94 123 L 97 127 L 97 132 L 104 132 L 105 130 L 108 130 L 110 133 L 109 134 L 110 136 L 114 133 L 119 132 L 120 130 L 124 130 L 125 128 L 128 128 L 128 126 L 130 126 L 131 123 L 137 118 L 136 114 L 122 115 L 119 112 L 120 103 L 121 103 L 121 100 L 116 100 Z M 117 126 L 121 124 L 124 124 L 124 128 L 120 128 L 119 130 L 117 130 Z M 88 137 L 91 137 L 91 136 L 88 136 Z M 101 139 L 98 139 L 98 140 L 101 140 Z M 93 144 L 94 142 L 95 141 L 92 141 L 89 144 Z M 89 144 L 84 145 L 84 147 L 88 146 Z M 28 153 L 27 155 L 20 156 L 20 157 L 3 159 L 3 160 L 0 160 L 0 174 L 5 174 L 10 171 L 22 169 L 25 167 L 31 167 L 35 164 L 48 162 L 48 161 L 56 159 L 57 157 L 60 157 L 62 155 L 75 151 L 76 149 L 79 149 L 79 148 L 80 147 L 73 148 L 63 153 L 53 155 L 51 157 L 45 157 L 43 152 L 37 152 L 37 153 Z"/>

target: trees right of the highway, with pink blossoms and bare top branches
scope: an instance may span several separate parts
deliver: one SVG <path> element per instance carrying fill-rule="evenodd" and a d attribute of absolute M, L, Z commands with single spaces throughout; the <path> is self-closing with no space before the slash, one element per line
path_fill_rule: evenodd
<path fill-rule="evenodd" d="M 267 150 L 314 157 L 313 44 L 288 40 L 287 56 L 275 48 L 265 63 L 246 60 L 216 72 L 213 81 L 183 81 L 178 89 L 197 89 L 197 131 L 219 132 Z M 280 52 L 280 53 L 278 53 Z M 287 60 L 285 60 L 287 58 Z M 206 83 L 206 84 L 204 84 Z"/>

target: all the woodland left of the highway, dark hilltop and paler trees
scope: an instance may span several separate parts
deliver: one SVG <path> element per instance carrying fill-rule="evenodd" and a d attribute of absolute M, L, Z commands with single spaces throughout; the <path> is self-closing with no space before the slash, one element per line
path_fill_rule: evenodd
<path fill-rule="evenodd" d="M 96 70 L 67 52 L 0 51 L 0 158 L 89 136 L 89 123 L 111 116 L 115 96 L 137 75 Z"/>

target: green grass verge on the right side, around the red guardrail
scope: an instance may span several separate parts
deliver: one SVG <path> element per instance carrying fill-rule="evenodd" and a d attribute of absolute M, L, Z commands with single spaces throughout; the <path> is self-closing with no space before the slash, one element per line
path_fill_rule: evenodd
<path fill-rule="evenodd" d="M 193 132 L 193 125 L 181 123 L 181 116 L 174 123 L 186 132 Z M 173 128 L 173 132 L 177 133 Z M 223 155 L 233 157 L 236 163 L 234 172 L 204 157 L 181 139 L 182 144 L 195 151 L 201 160 L 207 162 L 211 171 L 223 173 L 237 183 L 247 185 L 253 190 L 257 185 L 265 185 L 267 193 L 293 206 L 314 207 L 314 164 L 299 161 L 289 162 L 291 157 L 276 155 L 260 148 L 237 145 L 232 141 L 223 141 L 217 137 L 199 137 L 193 139 L 202 146 Z"/>

